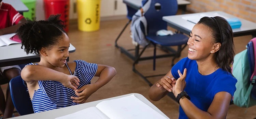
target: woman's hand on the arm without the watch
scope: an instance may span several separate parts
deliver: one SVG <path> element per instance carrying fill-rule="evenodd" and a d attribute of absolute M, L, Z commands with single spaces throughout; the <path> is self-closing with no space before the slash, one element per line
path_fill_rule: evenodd
<path fill-rule="evenodd" d="M 168 76 L 165 76 L 163 77 L 157 84 L 156 86 L 162 91 L 162 92 L 165 92 L 166 90 L 168 90 L 169 92 L 172 91 L 173 87 L 171 84 L 174 84 L 175 85 L 176 81 L 174 78 L 171 78 L 168 77 Z"/>

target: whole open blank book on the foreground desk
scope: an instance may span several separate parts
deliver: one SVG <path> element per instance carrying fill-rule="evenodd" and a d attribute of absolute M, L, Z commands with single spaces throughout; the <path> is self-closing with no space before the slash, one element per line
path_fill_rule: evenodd
<path fill-rule="evenodd" d="M 55 119 L 167 119 L 134 95 L 106 100 L 96 107 Z"/>

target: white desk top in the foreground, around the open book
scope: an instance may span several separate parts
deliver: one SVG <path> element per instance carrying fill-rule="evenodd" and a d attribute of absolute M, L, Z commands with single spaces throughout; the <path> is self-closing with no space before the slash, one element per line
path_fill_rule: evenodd
<path fill-rule="evenodd" d="M 148 101 L 144 96 L 141 94 L 133 93 L 137 98 L 139 98 L 142 102 L 153 108 L 155 111 L 169 119 L 165 114 L 163 114 L 155 105 L 153 105 L 150 101 Z M 125 96 L 130 96 L 132 94 L 127 94 L 127 95 L 122 95 L 122 96 L 117 96 L 113 98 L 108 98 L 108 99 L 103 99 L 103 100 L 98 100 L 98 101 L 93 101 L 93 102 L 88 102 L 84 104 L 79 104 L 75 106 L 69 106 L 69 107 L 64 107 L 64 108 L 59 108 L 59 109 L 54 109 L 51 111 L 46 111 L 46 112 L 41 112 L 41 113 L 35 113 L 35 114 L 29 114 L 29 115 L 24 115 L 24 116 L 18 116 L 10 119 L 54 119 L 56 117 L 68 115 L 71 113 L 75 113 L 77 111 L 81 111 L 82 109 L 96 106 L 98 103 L 104 100 L 111 100 L 111 99 L 116 99 L 116 98 L 121 98 Z"/>

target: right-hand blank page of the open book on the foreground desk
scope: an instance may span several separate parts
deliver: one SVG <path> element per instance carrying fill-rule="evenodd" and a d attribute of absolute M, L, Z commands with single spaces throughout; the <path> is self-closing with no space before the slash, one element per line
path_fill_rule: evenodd
<path fill-rule="evenodd" d="M 134 95 L 102 101 L 96 107 L 110 119 L 166 119 Z"/>

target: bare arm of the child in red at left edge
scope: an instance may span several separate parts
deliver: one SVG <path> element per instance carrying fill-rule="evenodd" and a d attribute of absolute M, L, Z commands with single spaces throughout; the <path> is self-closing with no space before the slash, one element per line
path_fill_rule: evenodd
<path fill-rule="evenodd" d="M 7 27 L 4 29 L 0 29 L 0 35 L 4 35 L 4 34 L 9 34 L 9 33 L 15 33 L 17 31 L 17 29 L 22 26 L 22 24 L 26 23 L 27 20 L 25 18 L 22 18 L 19 20 L 19 22 L 17 24 L 15 24 L 14 26 L 11 27 Z"/>

